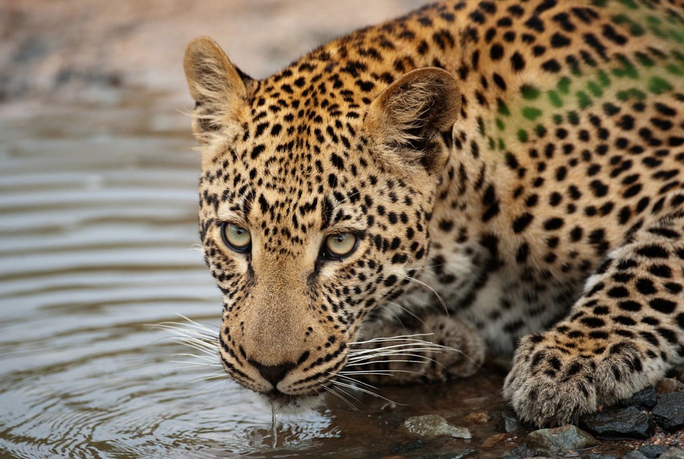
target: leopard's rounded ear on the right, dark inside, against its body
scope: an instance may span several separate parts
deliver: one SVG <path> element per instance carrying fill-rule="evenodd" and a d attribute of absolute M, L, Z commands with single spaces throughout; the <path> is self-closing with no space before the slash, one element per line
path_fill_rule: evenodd
<path fill-rule="evenodd" d="M 451 144 L 460 106 L 454 75 L 440 68 L 419 68 L 403 75 L 371 102 L 366 123 L 388 164 L 403 166 L 407 172 L 423 167 L 436 174 L 449 156 L 445 144 Z M 440 141 L 442 134 L 448 137 L 445 141 Z"/>

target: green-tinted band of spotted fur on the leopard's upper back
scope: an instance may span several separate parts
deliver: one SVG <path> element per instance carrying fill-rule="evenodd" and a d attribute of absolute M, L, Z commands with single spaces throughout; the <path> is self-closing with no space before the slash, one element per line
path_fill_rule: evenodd
<path fill-rule="evenodd" d="M 583 112 L 613 116 L 621 104 L 646 102 L 649 95 L 684 93 L 684 18 L 655 11 L 649 0 L 594 0 L 607 9 L 616 33 L 627 38 L 652 34 L 658 47 L 613 52 L 605 62 L 565 63 L 555 83 L 523 82 L 516 96 L 497 100 L 497 149 L 508 151 L 549 134 L 552 125 L 578 125 Z M 490 142 L 491 143 L 491 142 Z M 511 150 L 513 151 L 513 150 Z"/>

